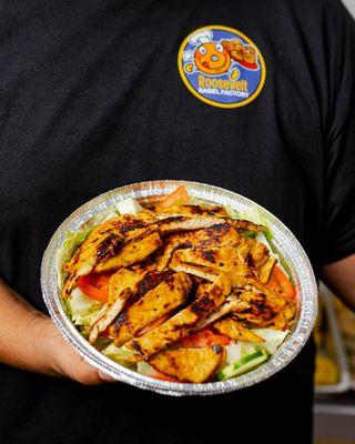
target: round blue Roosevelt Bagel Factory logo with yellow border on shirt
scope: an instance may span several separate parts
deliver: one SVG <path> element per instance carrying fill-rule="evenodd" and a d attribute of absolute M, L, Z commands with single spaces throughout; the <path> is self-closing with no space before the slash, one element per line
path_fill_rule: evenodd
<path fill-rule="evenodd" d="M 210 26 L 182 42 L 178 64 L 189 90 L 220 108 L 252 102 L 265 83 L 266 67 L 256 46 L 236 29 Z"/>

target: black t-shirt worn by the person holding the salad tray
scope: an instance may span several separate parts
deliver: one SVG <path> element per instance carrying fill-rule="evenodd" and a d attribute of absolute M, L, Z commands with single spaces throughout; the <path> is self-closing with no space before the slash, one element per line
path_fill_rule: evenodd
<path fill-rule="evenodd" d="M 0 23 L 0 273 L 37 309 L 45 312 L 40 261 L 59 223 L 136 181 L 194 180 L 251 198 L 294 232 L 316 271 L 355 251 L 355 31 L 338 1 L 12 0 Z M 265 84 L 243 107 L 186 88 L 196 59 L 178 69 L 184 39 L 211 23 L 243 32 L 265 61 Z M 227 81 L 256 75 L 255 57 L 242 59 Z M 313 359 L 310 341 L 257 386 L 183 398 L 2 365 L 0 441 L 311 443 Z"/>

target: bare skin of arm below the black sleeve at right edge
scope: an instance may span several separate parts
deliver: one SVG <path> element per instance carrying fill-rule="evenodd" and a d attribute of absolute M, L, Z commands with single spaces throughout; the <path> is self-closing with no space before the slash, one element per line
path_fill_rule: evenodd
<path fill-rule="evenodd" d="M 355 312 L 355 254 L 322 268 L 322 279 Z"/>

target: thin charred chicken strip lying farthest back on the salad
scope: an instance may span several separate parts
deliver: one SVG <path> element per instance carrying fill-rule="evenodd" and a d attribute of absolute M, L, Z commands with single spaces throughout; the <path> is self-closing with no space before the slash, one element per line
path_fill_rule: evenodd
<path fill-rule="evenodd" d="M 153 206 L 151 210 L 158 219 L 184 215 L 187 218 L 216 216 L 227 218 L 227 212 L 221 205 L 172 205 L 165 209 Z"/>

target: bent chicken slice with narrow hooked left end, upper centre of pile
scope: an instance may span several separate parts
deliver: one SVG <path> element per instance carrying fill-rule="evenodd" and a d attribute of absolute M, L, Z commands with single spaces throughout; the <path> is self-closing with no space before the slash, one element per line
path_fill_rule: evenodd
<path fill-rule="evenodd" d="M 164 253 L 158 262 L 158 269 L 168 268 L 173 252 L 178 249 L 196 248 L 209 249 L 212 246 L 237 245 L 240 234 L 227 223 L 219 223 L 207 229 L 187 233 L 178 233 L 170 236 L 164 248 Z"/>

